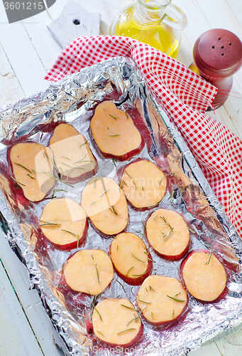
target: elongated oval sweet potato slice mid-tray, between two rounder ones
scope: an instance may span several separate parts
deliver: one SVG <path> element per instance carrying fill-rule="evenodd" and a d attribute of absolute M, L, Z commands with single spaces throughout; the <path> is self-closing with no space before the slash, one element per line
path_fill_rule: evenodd
<path fill-rule="evenodd" d="M 119 185 L 109 177 L 92 178 L 82 191 L 82 206 L 92 224 L 105 235 L 122 232 L 128 224 L 128 205 Z"/>

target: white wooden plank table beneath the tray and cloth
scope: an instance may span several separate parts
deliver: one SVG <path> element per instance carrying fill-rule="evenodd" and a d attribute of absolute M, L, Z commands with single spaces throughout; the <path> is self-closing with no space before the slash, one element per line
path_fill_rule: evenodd
<path fill-rule="evenodd" d="M 79 0 L 87 11 L 101 14 L 100 34 L 108 34 L 119 9 L 132 0 Z M 177 60 L 189 66 L 192 48 L 200 34 L 210 28 L 226 28 L 242 38 L 241 0 L 173 0 L 185 12 L 188 26 L 182 33 Z M 65 0 L 41 14 L 9 24 L 0 1 L 0 106 L 48 86 L 43 80 L 61 48 L 46 24 L 60 14 Z M 242 139 L 242 69 L 233 76 L 233 93 L 212 117 Z M 0 355 L 57 356 L 62 352 L 53 342 L 53 328 L 37 292 L 29 290 L 26 268 L 0 233 Z M 241 325 L 242 328 L 242 325 Z M 58 336 L 54 335 L 58 340 Z M 211 342 L 190 356 L 241 356 L 242 330 Z"/>

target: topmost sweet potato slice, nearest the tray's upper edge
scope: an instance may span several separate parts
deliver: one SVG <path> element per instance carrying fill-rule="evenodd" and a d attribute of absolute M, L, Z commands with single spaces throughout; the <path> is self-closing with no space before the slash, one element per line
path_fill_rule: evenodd
<path fill-rule="evenodd" d="M 97 106 L 90 128 L 99 150 L 106 157 L 123 161 L 143 150 L 145 142 L 133 120 L 111 101 Z"/>

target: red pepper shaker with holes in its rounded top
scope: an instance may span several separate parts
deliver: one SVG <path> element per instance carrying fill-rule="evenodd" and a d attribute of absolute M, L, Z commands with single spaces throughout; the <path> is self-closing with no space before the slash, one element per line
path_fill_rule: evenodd
<path fill-rule="evenodd" d="M 214 28 L 197 38 L 193 58 L 197 68 L 194 63 L 189 68 L 218 88 L 214 107 L 207 111 L 217 109 L 229 96 L 233 84 L 232 75 L 241 68 L 242 42 L 233 32 Z"/>

